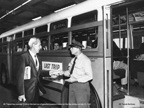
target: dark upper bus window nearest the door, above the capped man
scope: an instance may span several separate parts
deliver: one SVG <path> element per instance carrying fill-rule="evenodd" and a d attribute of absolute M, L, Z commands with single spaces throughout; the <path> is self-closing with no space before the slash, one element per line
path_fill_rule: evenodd
<path fill-rule="evenodd" d="M 91 11 L 72 18 L 72 26 L 97 21 L 97 11 Z"/>

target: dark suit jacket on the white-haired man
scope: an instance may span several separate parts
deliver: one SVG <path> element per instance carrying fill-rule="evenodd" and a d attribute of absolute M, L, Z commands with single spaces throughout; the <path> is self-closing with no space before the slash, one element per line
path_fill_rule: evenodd
<path fill-rule="evenodd" d="M 31 67 L 31 78 L 24 80 L 24 71 L 26 66 Z M 17 87 L 18 95 L 25 95 L 27 102 L 36 102 L 35 100 L 39 96 L 39 74 L 40 71 L 36 69 L 34 60 L 30 55 L 29 51 L 22 54 L 18 62 Z"/>

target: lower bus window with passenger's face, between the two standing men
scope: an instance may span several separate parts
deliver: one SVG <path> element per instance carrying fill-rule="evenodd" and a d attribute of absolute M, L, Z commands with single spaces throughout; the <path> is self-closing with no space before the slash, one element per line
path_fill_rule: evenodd
<path fill-rule="evenodd" d="M 68 33 L 51 35 L 51 50 L 67 49 Z"/>

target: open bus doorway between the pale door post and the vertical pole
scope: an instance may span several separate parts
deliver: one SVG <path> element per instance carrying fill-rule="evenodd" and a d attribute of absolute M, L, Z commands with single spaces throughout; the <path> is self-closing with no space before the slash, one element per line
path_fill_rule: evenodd
<path fill-rule="evenodd" d="M 113 7 L 111 9 L 113 108 L 123 108 L 122 104 L 126 103 L 126 95 L 129 95 L 129 50 L 132 47 L 132 35 L 128 21 L 128 9 L 125 7 L 123 14 Z"/>

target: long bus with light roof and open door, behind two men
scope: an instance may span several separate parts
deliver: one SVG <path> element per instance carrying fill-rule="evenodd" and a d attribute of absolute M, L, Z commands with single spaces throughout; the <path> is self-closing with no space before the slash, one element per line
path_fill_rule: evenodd
<path fill-rule="evenodd" d="M 143 0 L 87 0 L 2 33 L 0 83 L 15 84 L 18 56 L 28 51 L 31 37 L 38 37 L 42 43 L 40 81 L 47 92 L 41 98 L 45 103 L 68 107 L 68 88 L 63 89 L 63 78 L 53 80 L 47 76 L 51 69 L 67 70 L 72 58 L 68 45 L 78 39 L 84 46 L 84 54 L 92 62 L 91 108 L 144 107 L 143 89 L 132 86 L 129 67 L 133 54 L 144 42 L 143 3 Z M 123 55 L 114 56 L 113 42 Z M 55 43 L 60 45 L 57 50 Z M 116 72 L 113 69 L 115 59 L 121 59 L 127 70 Z M 138 72 L 141 85 L 143 76 Z M 122 86 L 119 80 L 123 77 L 127 80 L 125 92 L 119 89 Z"/>

